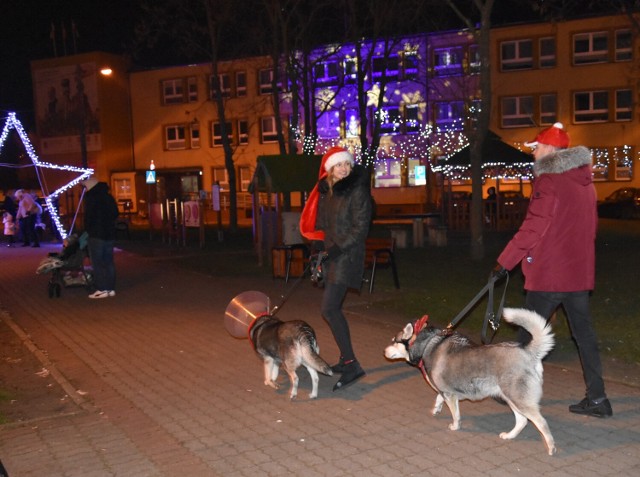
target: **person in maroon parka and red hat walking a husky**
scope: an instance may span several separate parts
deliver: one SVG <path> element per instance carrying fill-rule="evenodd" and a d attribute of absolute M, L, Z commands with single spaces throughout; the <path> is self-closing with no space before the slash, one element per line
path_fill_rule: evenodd
<path fill-rule="evenodd" d="M 549 319 L 563 306 L 587 388 L 585 398 L 569 406 L 569 411 L 610 417 L 613 412 L 604 389 L 589 311 L 598 222 L 591 153 L 583 146 L 569 148 L 569 135 L 560 123 L 525 145 L 534 148 L 531 200 L 520 229 L 498 257 L 494 274 L 504 275 L 521 263 L 526 308 Z M 530 339 L 531 335 L 521 330 L 520 341 Z"/>

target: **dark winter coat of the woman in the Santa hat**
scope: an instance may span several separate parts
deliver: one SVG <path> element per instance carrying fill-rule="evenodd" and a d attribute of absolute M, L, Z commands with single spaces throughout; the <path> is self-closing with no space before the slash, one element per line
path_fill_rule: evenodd
<path fill-rule="evenodd" d="M 371 224 L 371 189 L 367 170 L 359 165 L 330 190 L 327 179 L 318 184 L 320 198 L 316 229 L 324 231 L 325 250 L 340 253 L 325 265 L 325 280 L 360 289 L 364 273 L 365 241 Z"/>

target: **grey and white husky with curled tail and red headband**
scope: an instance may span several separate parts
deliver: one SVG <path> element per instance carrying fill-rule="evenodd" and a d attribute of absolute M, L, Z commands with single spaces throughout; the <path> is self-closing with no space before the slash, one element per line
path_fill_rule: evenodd
<path fill-rule="evenodd" d="M 503 316 L 531 333 L 531 342 L 526 346 L 515 342 L 477 346 L 459 333 L 432 326 L 420 329 L 423 321 L 407 324 L 384 355 L 420 367 L 438 393 L 432 414 L 438 414 L 447 403 L 453 417 L 449 424 L 452 431 L 460 428 L 459 399 L 493 397 L 508 404 L 516 418 L 513 429 L 502 432 L 500 438 L 515 438 L 530 420 L 544 437 L 549 455 L 553 455 L 555 443 L 539 406 L 542 358 L 553 348 L 553 333 L 545 319 L 533 311 L 505 308 Z"/>

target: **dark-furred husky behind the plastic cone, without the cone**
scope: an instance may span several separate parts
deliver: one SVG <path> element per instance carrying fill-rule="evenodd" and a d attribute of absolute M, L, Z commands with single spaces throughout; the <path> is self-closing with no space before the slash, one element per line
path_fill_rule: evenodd
<path fill-rule="evenodd" d="M 262 315 L 249 328 L 249 339 L 264 361 L 264 384 L 278 389 L 276 380 L 282 365 L 291 381 L 291 399 L 298 395 L 296 370 L 300 365 L 307 368 L 311 376 L 311 399 L 318 396 L 318 372 L 333 375 L 331 366 L 318 354 L 320 348 L 313 328 L 304 321 L 281 321 L 273 315 Z"/>

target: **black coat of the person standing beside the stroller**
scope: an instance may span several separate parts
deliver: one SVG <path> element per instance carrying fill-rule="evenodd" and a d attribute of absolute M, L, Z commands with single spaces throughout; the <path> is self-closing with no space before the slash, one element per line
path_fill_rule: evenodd
<path fill-rule="evenodd" d="M 90 238 L 115 240 L 118 204 L 106 182 L 98 182 L 84 195 L 84 229 Z"/>

